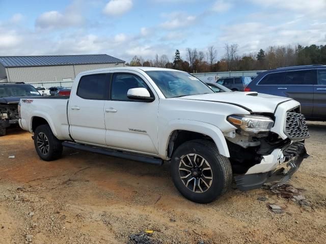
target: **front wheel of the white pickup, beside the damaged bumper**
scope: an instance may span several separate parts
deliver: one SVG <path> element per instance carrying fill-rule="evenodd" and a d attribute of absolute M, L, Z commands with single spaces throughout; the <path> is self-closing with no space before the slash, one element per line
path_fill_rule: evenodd
<path fill-rule="evenodd" d="M 207 140 L 180 145 L 172 156 L 171 172 L 179 192 L 198 203 L 212 202 L 229 189 L 232 181 L 229 159 Z"/>

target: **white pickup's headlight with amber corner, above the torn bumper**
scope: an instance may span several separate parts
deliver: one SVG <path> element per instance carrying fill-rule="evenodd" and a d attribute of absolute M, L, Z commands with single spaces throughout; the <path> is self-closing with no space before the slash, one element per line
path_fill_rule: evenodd
<path fill-rule="evenodd" d="M 269 132 L 274 125 L 273 119 L 261 115 L 230 115 L 227 120 L 250 135 Z"/>

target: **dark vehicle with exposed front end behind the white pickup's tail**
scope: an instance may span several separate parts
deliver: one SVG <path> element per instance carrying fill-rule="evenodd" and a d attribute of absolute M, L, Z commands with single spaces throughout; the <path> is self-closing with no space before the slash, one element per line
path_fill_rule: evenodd
<path fill-rule="evenodd" d="M 0 136 L 6 135 L 8 127 L 18 125 L 19 100 L 35 96 L 41 94 L 32 85 L 0 83 Z"/>

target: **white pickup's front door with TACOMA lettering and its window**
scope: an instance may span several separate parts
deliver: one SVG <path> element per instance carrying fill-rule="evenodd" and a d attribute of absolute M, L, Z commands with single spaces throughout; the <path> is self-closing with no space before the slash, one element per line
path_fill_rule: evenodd
<path fill-rule="evenodd" d="M 128 99 L 128 89 L 137 87 L 145 87 L 151 96 L 156 96 L 140 74 L 113 74 L 111 98 L 104 103 L 106 145 L 157 155 L 158 98 L 153 102 Z"/>

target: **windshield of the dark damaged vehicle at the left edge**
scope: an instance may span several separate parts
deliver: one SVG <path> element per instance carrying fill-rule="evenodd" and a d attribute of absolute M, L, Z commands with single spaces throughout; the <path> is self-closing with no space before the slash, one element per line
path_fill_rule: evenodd
<path fill-rule="evenodd" d="M 32 85 L 3 85 L 0 86 L 0 98 L 4 97 L 41 96 Z"/>

